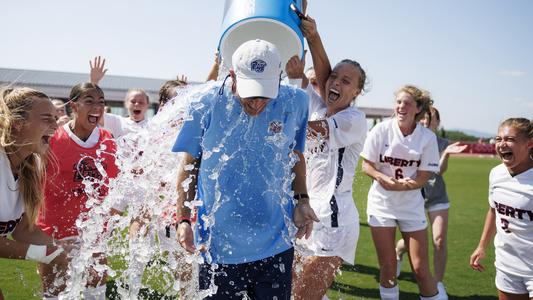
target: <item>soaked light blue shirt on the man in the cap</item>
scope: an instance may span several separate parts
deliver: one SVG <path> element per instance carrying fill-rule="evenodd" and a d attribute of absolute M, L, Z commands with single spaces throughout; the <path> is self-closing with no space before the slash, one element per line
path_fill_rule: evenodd
<path fill-rule="evenodd" d="M 229 88 L 191 103 L 174 152 L 200 158 L 198 244 L 208 262 L 239 264 L 292 247 L 293 150 L 304 151 L 308 98 L 282 85 L 276 99 L 252 117 Z"/>

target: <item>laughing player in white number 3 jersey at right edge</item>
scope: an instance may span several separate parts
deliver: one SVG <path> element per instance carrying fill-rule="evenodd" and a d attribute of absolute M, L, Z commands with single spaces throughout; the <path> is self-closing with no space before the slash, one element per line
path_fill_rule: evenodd
<path fill-rule="evenodd" d="M 492 238 L 500 300 L 533 299 L 533 122 L 510 118 L 498 129 L 496 153 L 502 164 L 489 176 L 489 211 L 470 266 L 480 263 Z"/>

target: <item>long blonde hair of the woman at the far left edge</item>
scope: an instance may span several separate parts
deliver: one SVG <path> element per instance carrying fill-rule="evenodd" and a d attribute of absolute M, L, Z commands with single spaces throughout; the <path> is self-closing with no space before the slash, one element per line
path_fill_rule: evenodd
<path fill-rule="evenodd" d="M 46 94 L 30 88 L 0 89 L 0 146 L 6 154 L 16 153 L 19 147 L 24 146 L 16 143 L 12 128 L 16 122 L 28 119 L 36 98 L 49 99 Z M 44 201 L 45 164 L 45 156 L 32 153 L 18 167 L 19 191 L 30 229 Z"/>

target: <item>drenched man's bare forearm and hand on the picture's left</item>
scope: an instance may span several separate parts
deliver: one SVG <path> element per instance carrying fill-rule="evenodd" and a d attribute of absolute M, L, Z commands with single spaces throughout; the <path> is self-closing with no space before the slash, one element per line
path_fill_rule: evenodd
<path fill-rule="evenodd" d="M 181 222 L 181 220 L 190 220 L 191 218 L 191 208 L 187 205 L 196 196 L 199 165 L 199 159 L 185 153 L 178 171 L 177 216 L 180 221 L 178 221 L 179 224 L 176 234 L 180 245 L 190 253 L 196 250 L 191 224 L 190 221 Z"/>

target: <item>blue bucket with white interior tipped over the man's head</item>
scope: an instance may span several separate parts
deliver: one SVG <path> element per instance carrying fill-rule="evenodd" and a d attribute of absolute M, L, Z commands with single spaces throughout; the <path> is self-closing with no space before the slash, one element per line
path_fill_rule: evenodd
<path fill-rule="evenodd" d="M 305 18 L 302 0 L 226 0 L 219 53 L 223 67 L 230 69 L 231 56 L 244 42 L 269 41 L 280 52 L 281 64 L 294 55 L 303 56 L 303 35 L 299 25 Z"/>

